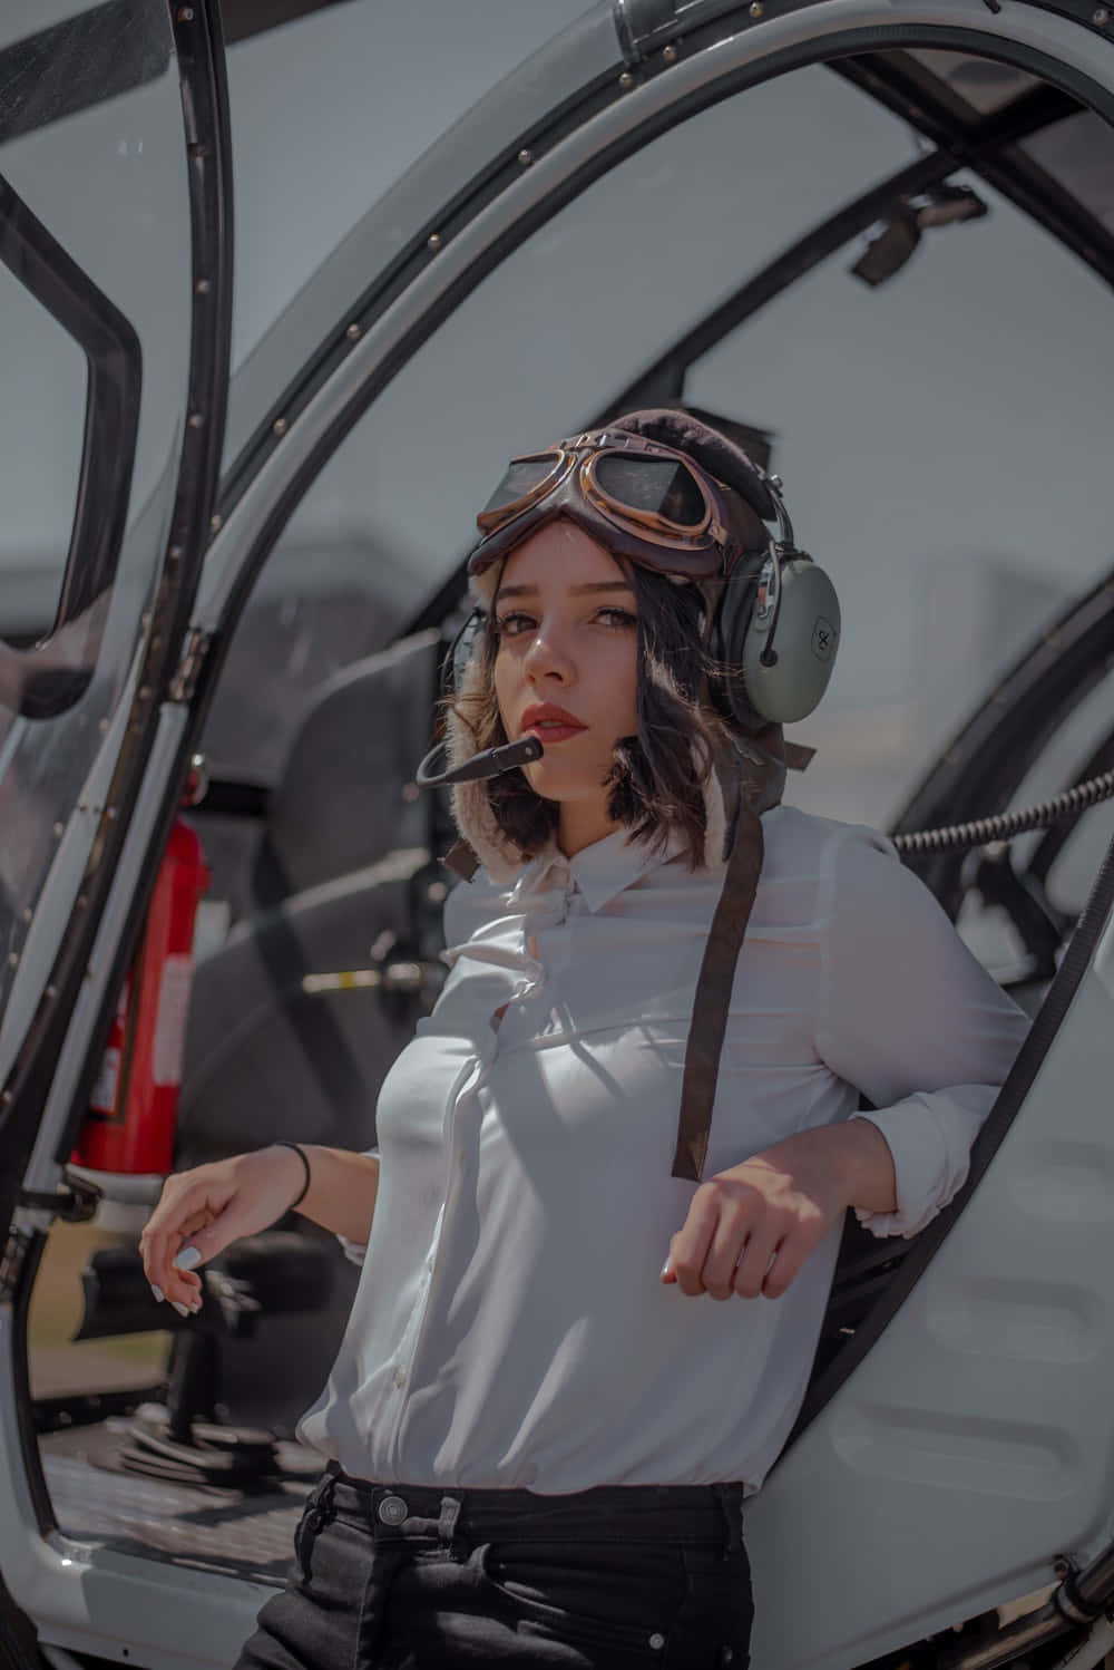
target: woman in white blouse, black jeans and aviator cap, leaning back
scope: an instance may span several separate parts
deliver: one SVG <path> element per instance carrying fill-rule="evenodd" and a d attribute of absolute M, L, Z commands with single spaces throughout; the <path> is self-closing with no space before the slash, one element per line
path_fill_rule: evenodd
<path fill-rule="evenodd" d="M 779 730 L 707 653 L 760 473 L 699 423 L 622 424 L 669 463 L 640 508 L 587 436 L 480 518 L 450 746 L 544 753 L 454 790 L 484 867 L 382 1089 L 382 1176 L 275 1146 L 170 1177 L 143 1234 L 185 1309 L 198 1263 L 290 1206 L 364 1258 L 300 1425 L 329 1470 L 243 1670 L 745 1665 L 742 1500 L 800 1406 L 844 1214 L 921 1229 L 1024 1035 L 889 842 L 777 805 Z M 685 1147 L 729 848 L 757 885 Z"/>

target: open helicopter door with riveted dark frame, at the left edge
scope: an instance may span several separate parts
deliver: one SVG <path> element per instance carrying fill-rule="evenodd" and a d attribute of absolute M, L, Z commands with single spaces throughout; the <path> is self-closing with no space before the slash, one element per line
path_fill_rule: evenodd
<path fill-rule="evenodd" d="M 32 1615 L 50 1516 L 23 1465 L 20 1296 L 35 1232 L 75 1202 L 55 1152 L 28 1156 L 47 1097 L 85 1094 L 88 994 L 110 992 L 150 880 L 122 855 L 137 807 L 145 838 L 162 817 L 143 772 L 175 777 L 185 728 L 173 678 L 227 399 L 227 157 L 215 3 L 3 7 L 0 1570 Z"/>

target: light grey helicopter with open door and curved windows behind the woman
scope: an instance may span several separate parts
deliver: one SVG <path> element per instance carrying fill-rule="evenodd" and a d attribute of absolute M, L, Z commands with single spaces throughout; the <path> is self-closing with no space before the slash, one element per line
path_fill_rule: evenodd
<path fill-rule="evenodd" d="M 444 970 L 449 808 L 414 777 L 475 484 L 524 438 L 669 404 L 785 469 L 847 601 L 877 603 L 867 676 L 892 680 L 932 615 L 927 711 L 817 716 L 792 792 L 886 822 L 1032 1017 L 956 1199 L 909 1241 L 847 1222 L 805 1401 L 747 1503 L 754 1663 L 1114 1652 L 1114 553 L 1086 402 L 1114 369 L 1114 15 L 555 12 L 467 63 L 454 38 L 454 99 L 405 157 L 364 60 L 389 60 L 389 115 L 420 63 L 390 62 L 359 0 L 0 18 L 0 331 L 32 367 L 0 402 L 3 548 L 50 558 L 0 601 L 12 1670 L 232 1663 L 282 1585 L 319 1470 L 294 1421 L 354 1266 L 292 1219 L 213 1263 L 202 1318 L 168 1319 L 135 1236 L 170 1169 L 374 1144 Z M 257 157 L 252 220 L 232 135 L 238 109 L 285 120 L 285 30 L 304 63 L 330 43 L 337 129 L 317 180 Z M 300 267 L 252 322 L 233 229 L 258 284 L 263 214 Z M 957 559 L 926 603 L 899 546 L 944 528 Z M 999 529 L 1041 573 L 987 590 Z M 77 1226 L 105 1234 L 73 1274 L 72 1373 L 43 1391 L 37 1291 Z M 153 1376 L 90 1386 L 88 1343 L 152 1336 Z"/>

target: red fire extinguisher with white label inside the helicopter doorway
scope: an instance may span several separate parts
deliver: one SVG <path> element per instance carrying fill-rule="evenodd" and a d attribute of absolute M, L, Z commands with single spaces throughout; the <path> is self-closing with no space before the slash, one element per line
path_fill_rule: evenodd
<path fill-rule="evenodd" d="M 120 992 L 88 1116 L 70 1156 L 77 1166 L 170 1172 L 193 979 L 193 922 L 210 880 L 195 830 L 178 818 Z"/>

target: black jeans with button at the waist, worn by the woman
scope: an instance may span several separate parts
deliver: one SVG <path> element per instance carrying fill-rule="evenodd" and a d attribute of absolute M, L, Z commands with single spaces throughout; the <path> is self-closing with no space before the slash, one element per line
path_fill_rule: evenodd
<path fill-rule="evenodd" d="M 372 1485 L 335 1465 L 237 1670 L 747 1670 L 740 1485 Z"/>

